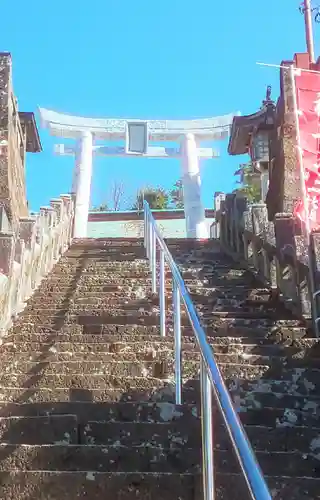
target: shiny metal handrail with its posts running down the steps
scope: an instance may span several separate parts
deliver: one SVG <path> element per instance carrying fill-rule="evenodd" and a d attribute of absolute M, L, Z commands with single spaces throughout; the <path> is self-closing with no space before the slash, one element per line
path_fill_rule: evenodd
<path fill-rule="evenodd" d="M 157 246 L 160 250 L 160 333 L 166 335 L 165 318 L 165 262 L 172 273 L 173 283 L 173 320 L 175 340 L 175 396 L 176 404 L 181 404 L 181 299 L 197 339 L 200 354 L 200 385 L 201 385 L 201 420 L 202 420 L 202 460 L 203 460 L 203 490 L 205 500 L 214 500 L 214 456 L 212 433 L 212 390 L 223 416 L 234 451 L 248 485 L 251 497 L 255 500 L 271 500 L 272 496 L 257 462 L 254 451 L 243 429 L 240 419 L 221 375 L 218 364 L 206 334 L 202 328 L 196 309 L 189 292 L 181 277 L 166 243 L 164 242 L 150 207 L 144 201 L 144 245 L 150 261 L 152 272 L 152 292 L 157 292 Z"/>

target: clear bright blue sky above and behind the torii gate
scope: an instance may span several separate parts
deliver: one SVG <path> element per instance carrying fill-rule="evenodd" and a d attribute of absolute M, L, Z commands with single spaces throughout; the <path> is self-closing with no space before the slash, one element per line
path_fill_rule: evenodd
<path fill-rule="evenodd" d="M 198 118 L 257 110 L 268 84 L 278 96 L 279 64 L 305 51 L 299 0 L 55 0 L 1 5 L 1 50 L 13 57 L 14 90 L 21 111 L 43 106 L 84 116 Z M 316 47 L 320 26 L 315 26 Z M 38 118 L 38 116 L 37 116 Z M 39 127 L 40 123 L 38 121 Z M 29 155 L 30 208 L 70 191 L 71 157 L 53 155 L 57 139 L 40 130 L 44 151 Z M 245 158 L 202 163 L 203 199 L 229 191 Z M 170 188 L 179 178 L 174 160 L 96 158 L 92 204 L 110 196 L 114 181 L 127 203 L 144 185 Z"/>

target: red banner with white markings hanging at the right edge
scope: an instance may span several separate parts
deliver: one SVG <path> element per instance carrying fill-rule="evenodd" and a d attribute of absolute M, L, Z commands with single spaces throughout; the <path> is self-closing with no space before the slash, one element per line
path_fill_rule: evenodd
<path fill-rule="evenodd" d="M 320 73 L 301 71 L 295 75 L 297 111 L 300 129 L 300 151 L 306 188 L 295 214 L 310 229 L 320 226 Z M 300 177 L 300 171 L 299 171 Z M 306 210 L 305 210 L 306 206 Z M 307 213 L 305 213 L 307 212 Z"/>

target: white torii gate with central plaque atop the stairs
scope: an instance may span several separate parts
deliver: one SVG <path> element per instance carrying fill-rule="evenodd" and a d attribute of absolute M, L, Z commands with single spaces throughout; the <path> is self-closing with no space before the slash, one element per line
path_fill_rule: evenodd
<path fill-rule="evenodd" d="M 42 125 L 52 135 L 77 140 L 75 147 L 55 146 L 60 155 L 76 158 L 72 190 L 76 195 L 74 237 L 87 236 L 93 155 L 180 158 L 187 238 L 208 238 L 201 201 L 199 158 L 215 158 L 212 148 L 198 147 L 200 141 L 228 136 L 234 114 L 198 120 L 130 120 L 84 118 L 40 108 Z M 97 146 L 94 140 L 124 140 L 123 147 Z M 150 146 L 151 141 L 174 141 L 180 148 Z"/>

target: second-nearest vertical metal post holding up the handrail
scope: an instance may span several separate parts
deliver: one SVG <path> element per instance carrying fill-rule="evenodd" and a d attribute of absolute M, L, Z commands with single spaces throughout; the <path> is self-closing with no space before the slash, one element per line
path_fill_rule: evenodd
<path fill-rule="evenodd" d="M 176 404 L 181 405 L 181 300 L 180 290 L 174 277 L 173 282 L 173 327 L 174 327 L 174 376 Z"/>

